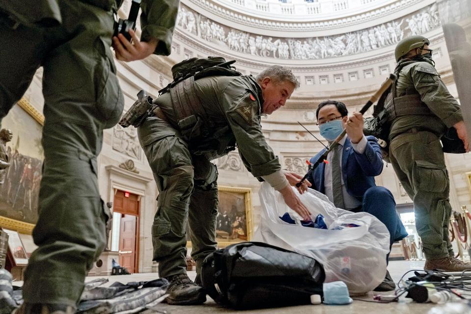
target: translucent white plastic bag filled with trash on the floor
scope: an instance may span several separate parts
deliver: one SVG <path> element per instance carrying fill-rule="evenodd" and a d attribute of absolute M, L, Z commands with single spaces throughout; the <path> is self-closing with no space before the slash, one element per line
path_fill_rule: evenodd
<path fill-rule="evenodd" d="M 300 195 L 311 212 L 325 217 L 328 230 L 292 225 L 279 218 L 288 212 L 295 220 L 302 218 L 290 209 L 281 193 L 264 182 L 260 189 L 262 207 L 260 224 L 253 241 L 292 250 L 322 263 L 325 282 L 343 281 L 350 293 L 361 294 L 376 288 L 386 275 L 386 255 L 389 252 L 389 232 L 376 217 L 365 212 L 353 213 L 336 208 L 322 193 L 313 189 Z M 360 227 L 345 227 L 356 224 Z"/>

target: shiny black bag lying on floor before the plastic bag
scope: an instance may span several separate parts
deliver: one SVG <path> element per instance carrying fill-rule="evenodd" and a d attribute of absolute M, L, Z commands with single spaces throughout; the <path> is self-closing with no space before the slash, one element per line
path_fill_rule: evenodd
<path fill-rule="evenodd" d="M 210 254 L 203 287 L 218 304 L 235 309 L 310 304 L 322 295 L 324 267 L 311 257 L 261 242 L 242 242 Z"/>

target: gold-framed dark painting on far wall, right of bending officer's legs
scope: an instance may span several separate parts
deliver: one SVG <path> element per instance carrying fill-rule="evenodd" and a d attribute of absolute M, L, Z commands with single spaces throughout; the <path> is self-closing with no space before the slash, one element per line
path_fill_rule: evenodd
<path fill-rule="evenodd" d="M 252 193 L 247 187 L 218 186 L 216 241 L 219 248 L 250 241 L 253 235 Z M 188 234 L 188 232 L 187 232 Z M 188 247 L 191 242 L 188 241 Z"/>

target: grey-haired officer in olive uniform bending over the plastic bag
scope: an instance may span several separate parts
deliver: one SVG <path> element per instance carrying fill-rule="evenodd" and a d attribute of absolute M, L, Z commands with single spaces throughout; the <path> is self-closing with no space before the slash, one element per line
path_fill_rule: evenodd
<path fill-rule="evenodd" d="M 282 71 L 284 77 L 277 78 L 277 71 Z M 156 116 L 138 128 L 140 144 L 159 190 L 152 227 L 154 261 L 159 262 L 160 277 L 172 283 L 168 289 L 169 304 L 199 304 L 206 300 L 202 288 L 186 276 L 185 228 L 188 223 L 191 256 L 200 274 L 204 258 L 216 249 L 217 170 L 209 160 L 227 154 L 235 143 L 245 166 L 255 177 L 262 177 L 280 190 L 285 200 L 289 197 L 297 200 L 297 203 L 288 200 L 287 204 L 301 216 L 308 214 L 297 197 L 285 195 L 292 193 L 289 178 L 266 143 L 261 127 L 261 114 L 271 114 L 285 105 L 298 84 L 291 71 L 280 66 L 266 69 L 258 79 L 199 78 L 184 86 L 181 93 L 177 85 L 158 97 L 154 101 L 159 106 Z M 189 110 L 182 116 L 181 111 L 191 107 L 199 112 Z M 186 131 L 190 135 L 185 135 L 178 126 L 191 115 L 201 120 Z"/>

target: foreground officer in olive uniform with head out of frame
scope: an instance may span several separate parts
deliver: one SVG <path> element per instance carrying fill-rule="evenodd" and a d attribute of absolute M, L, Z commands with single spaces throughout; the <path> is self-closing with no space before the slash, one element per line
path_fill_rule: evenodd
<path fill-rule="evenodd" d="M 122 42 L 121 54 L 169 54 L 178 4 L 143 0 L 142 41 Z M 38 248 L 19 313 L 73 312 L 105 247 L 109 210 L 98 190 L 97 156 L 103 130 L 118 122 L 124 105 L 110 50 L 116 9 L 116 0 L 0 2 L 0 122 L 44 68 Z"/>

